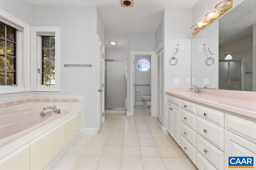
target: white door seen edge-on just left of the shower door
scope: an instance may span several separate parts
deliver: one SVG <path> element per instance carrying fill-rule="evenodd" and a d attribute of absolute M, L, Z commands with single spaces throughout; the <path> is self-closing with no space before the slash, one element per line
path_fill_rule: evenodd
<path fill-rule="evenodd" d="M 105 102 L 104 102 L 104 81 L 105 81 L 105 64 L 104 64 L 104 44 L 102 43 L 102 41 L 100 40 L 100 38 L 98 38 L 98 57 L 99 57 L 99 67 L 98 67 L 98 71 L 99 71 L 99 104 L 98 104 L 98 117 L 99 117 L 99 127 L 98 127 L 98 131 L 100 131 L 104 121 L 105 121 L 105 115 L 104 115 L 104 110 L 105 110 Z"/>

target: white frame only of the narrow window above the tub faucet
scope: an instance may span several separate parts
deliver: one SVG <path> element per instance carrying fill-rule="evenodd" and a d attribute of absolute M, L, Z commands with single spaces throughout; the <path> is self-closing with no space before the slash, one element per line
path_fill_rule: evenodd
<path fill-rule="evenodd" d="M 40 33 L 55 33 L 55 85 L 42 85 L 42 38 Z M 60 91 L 60 27 L 31 27 L 31 91 L 59 92 Z M 40 69 L 38 73 L 37 69 Z"/>

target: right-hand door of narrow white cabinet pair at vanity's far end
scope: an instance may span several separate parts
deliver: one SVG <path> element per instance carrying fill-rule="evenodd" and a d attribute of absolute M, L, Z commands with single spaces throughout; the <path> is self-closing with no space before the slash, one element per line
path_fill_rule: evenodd
<path fill-rule="evenodd" d="M 180 146 L 180 107 L 172 105 L 173 139 Z"/>

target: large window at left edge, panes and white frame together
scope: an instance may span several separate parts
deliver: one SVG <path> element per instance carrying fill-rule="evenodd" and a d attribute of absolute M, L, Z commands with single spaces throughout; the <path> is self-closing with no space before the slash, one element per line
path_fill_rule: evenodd
<path fill-rule="evenodd" d="M 0 10 L 0 94 L 30 90 L 30 26 Z"/>

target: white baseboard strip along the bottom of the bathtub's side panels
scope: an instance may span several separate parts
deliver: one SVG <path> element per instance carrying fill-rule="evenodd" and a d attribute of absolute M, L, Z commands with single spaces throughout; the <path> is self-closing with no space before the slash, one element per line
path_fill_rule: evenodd
<path fill-rule="evenodd" d="M 52 160 L 52 162 L 48 164 L 48 166 L 44 168 L 44 170 L 53 170 L 83 135 L 83 129 L 81 129 L 78 135 L 76 135 L 76 137 L 64 149 L 62 149 L 62 151 Z"/>

